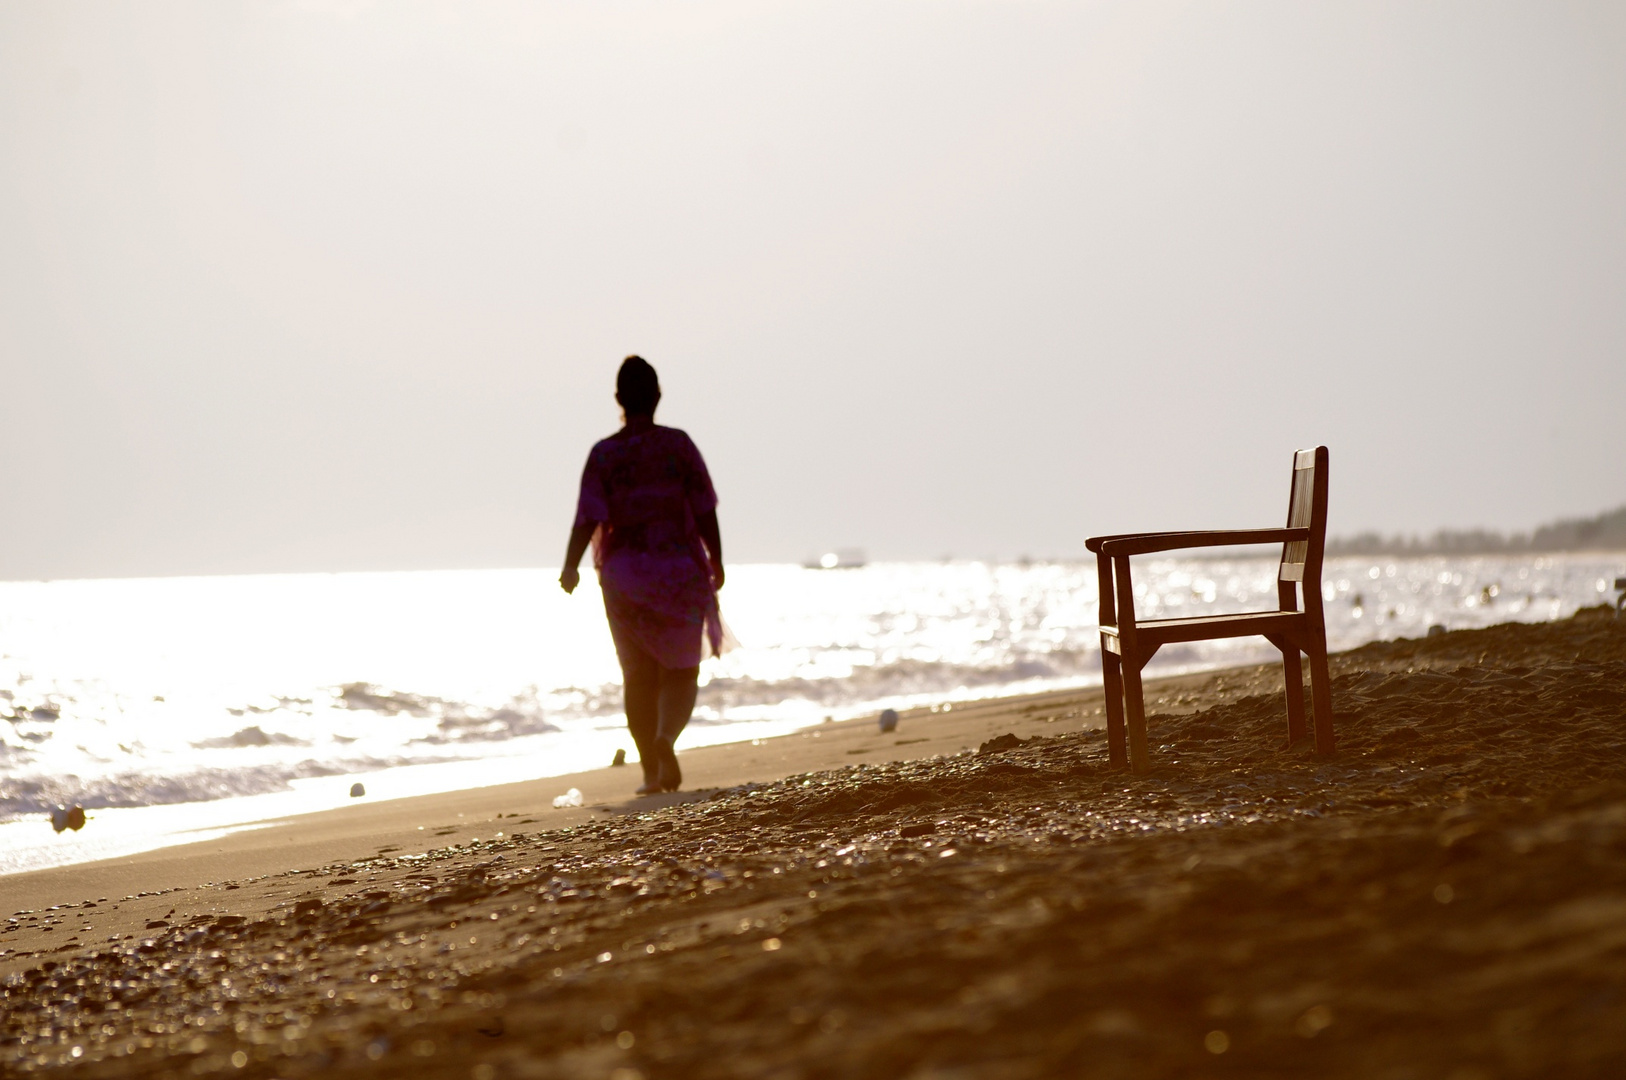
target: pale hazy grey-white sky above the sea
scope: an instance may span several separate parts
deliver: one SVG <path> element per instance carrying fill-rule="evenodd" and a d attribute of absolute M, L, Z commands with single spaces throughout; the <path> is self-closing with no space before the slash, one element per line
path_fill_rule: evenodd
<path fill-rule="evenodd" d="M 1626 5 L 0 3 L 0 577 L 1626 503 Z"/>

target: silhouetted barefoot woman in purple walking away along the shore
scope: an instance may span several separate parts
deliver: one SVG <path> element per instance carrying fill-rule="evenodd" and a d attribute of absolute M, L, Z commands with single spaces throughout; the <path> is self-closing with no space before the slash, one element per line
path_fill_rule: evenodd
<path fill-rule="evenodd" d="M 624 423 L 587 455 L 559 586 L 576 590 L 592 543 L 646 795 L 683 784 L 673 743 L 694 711 L 701 660 L 722 652 L 722 537 L 699 449 L 655 423 L 655 369 L 628 356 L 615 387 Z"/>

